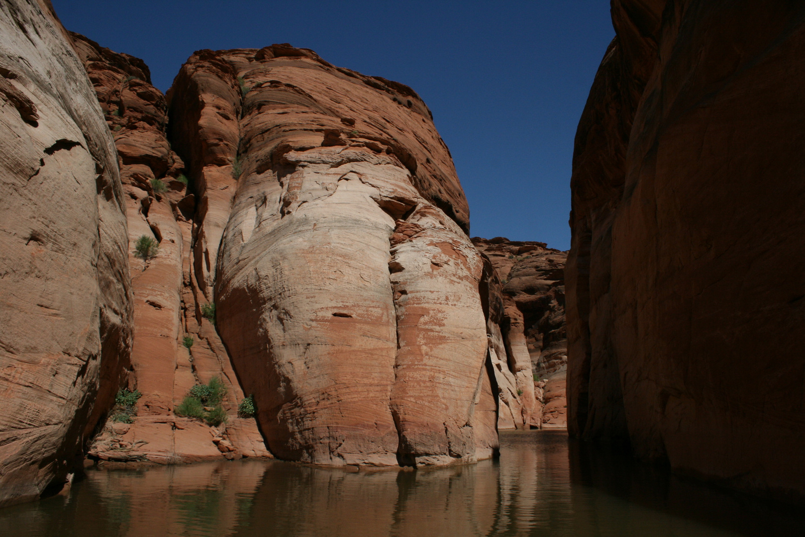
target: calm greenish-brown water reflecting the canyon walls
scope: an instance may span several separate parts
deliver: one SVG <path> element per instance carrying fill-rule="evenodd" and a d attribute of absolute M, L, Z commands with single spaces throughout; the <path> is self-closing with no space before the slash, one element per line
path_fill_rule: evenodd
<path fill-rule="evenodd" d="M 501 457 L 419 472 L 279 461 L 89 470 L 69 494 L 0 510 L 0 535 L 805 535 L 805 520 L 602 455 L 511 432 Z"/>

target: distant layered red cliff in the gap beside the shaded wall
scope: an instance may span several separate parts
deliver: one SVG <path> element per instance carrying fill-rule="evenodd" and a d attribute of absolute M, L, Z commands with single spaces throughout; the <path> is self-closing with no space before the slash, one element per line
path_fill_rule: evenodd
<path fill-rule="evenodd" d="M 473 244 L 500 279 L 502 315 L 497 367 L 498 428 L 564 428 L 567 336 L 564 263 L 567 252 L 544 242 L 475 237 Z M 534 403 L 532 403 L 534 402 Z M 508 411 L 506 411 L 508 409 Z"/>

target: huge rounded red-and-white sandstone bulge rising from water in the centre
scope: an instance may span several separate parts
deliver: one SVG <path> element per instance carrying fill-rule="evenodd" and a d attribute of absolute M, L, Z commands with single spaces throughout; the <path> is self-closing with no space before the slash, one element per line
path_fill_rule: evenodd
<path fill-rule="evenodd" d="M 168 96 L 200 195 L 196 275 L 270 451 L 491 456 L 482 262 L 419 97 L 290 45 L 196 52 Z"/>

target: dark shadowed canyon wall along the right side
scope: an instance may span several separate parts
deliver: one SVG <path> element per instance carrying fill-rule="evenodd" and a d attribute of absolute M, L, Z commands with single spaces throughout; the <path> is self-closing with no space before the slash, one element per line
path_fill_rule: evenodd
<path fill-rule="evenodd" d="M 805 8 L 664 4 L 613 4 L 576 135 L 568 425 L 801 501 Z"/>

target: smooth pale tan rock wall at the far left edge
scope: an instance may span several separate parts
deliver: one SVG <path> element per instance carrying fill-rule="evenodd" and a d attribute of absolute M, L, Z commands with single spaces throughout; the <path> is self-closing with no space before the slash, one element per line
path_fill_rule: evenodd
<path fill-rule="evenodd" d="M 126 216 L 109 129 L 49 2 L 0 5 L 0 505 L 58 491 L 123 381 Z"/>

